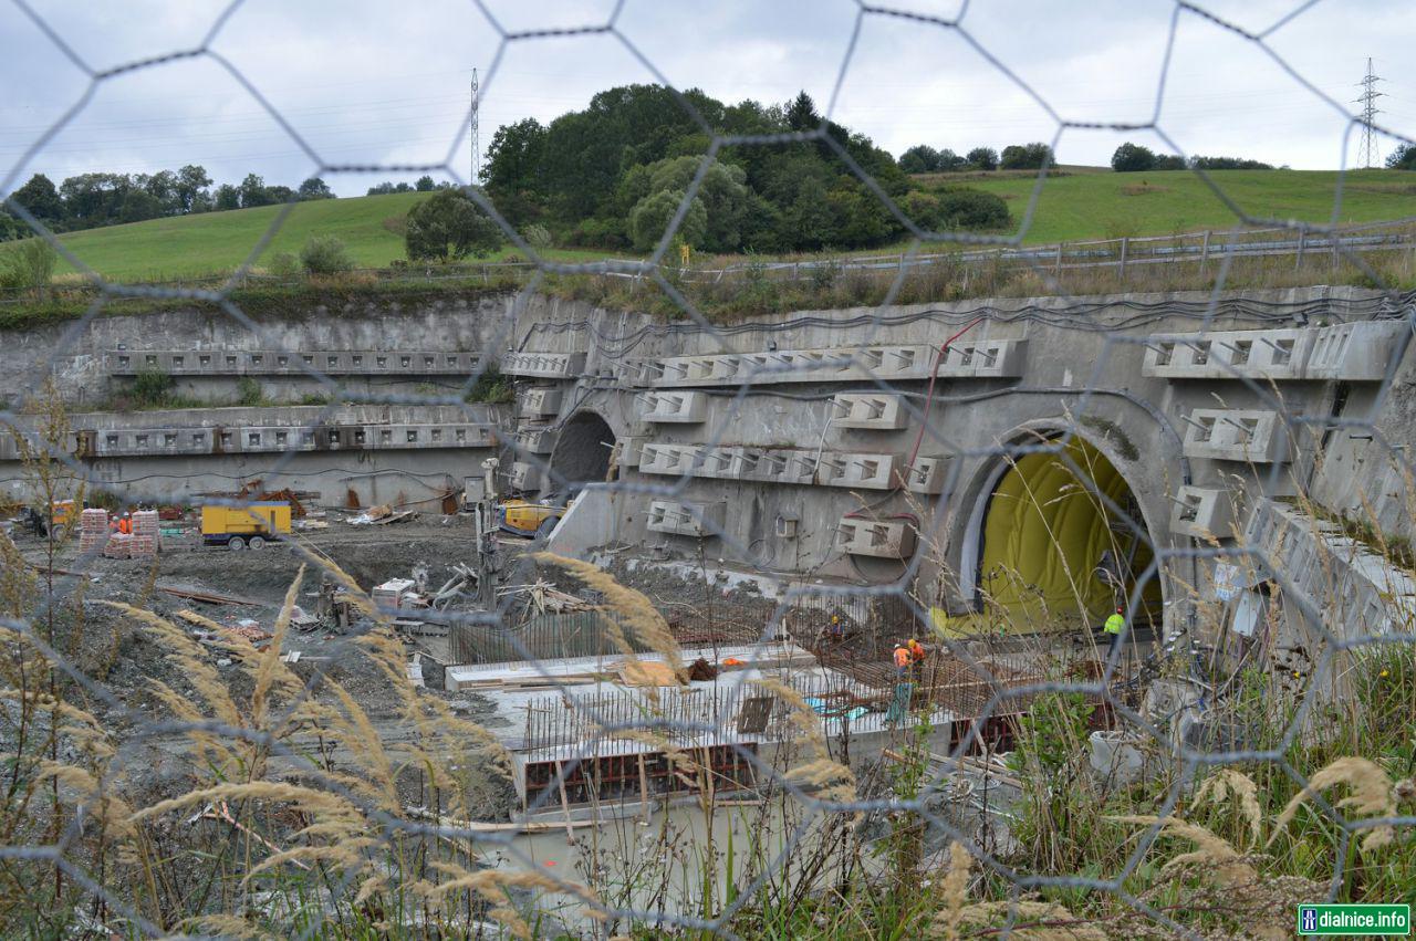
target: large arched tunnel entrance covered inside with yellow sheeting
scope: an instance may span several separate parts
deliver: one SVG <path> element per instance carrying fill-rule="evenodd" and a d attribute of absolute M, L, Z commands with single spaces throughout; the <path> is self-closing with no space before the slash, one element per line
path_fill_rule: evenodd
<path fill-rule="evenodd" d="M 1144 532 L 1130 485 L 1082 437 L 1072 437 L 1062 453 L 1004 461 L 978 495 L 964 539 L 961 587 L 973 589 L 978 610 L 949 618 L 950 627 L 1008 634 L 1092 630 L 1129 604 L 1151 565 L 1153 543 Z M 1153 576 L 1133 623 L 1158 624 L 1161 613 L 1161 586 Z"/>

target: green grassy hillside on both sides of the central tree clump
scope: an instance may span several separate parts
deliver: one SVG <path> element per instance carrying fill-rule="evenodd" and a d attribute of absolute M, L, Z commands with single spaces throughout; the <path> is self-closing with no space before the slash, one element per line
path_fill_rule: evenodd
<path fill-rule="evenodd" d="M 1066 167 L 1049 178 L 1028 232 L 1029 243 L 1121 235 L 1171 235 L 1235 224 L 1228 207 L 1192 173 L 1114 174 Z M 1236 202 L 1259 215 L 1327 222 L 1337 173 L 1231 170 L 1212 174 Z M 1021 219 L 1032 188 L 1031 173 L 920 177 L 926 187 L 964 183 L 997 192 Z M 312 235 L 336 235 L 360 266 L 381 267 L 404 258 L 399 219 L 423 198 L 418 192 L 302 202 L 266 249 L 297 253 Z M 101 273 L 122 280 L 169 280 L 229 272 L 270 226 L 280 207 L 208 212 L 173 219 L 74 232 L 65 245 Z M 1375 222 L 1416 217 L 1416 174 L 1364 170 L 1349 174 L 1340 221 Z M 562 260 L 603 258 L 603 252 L 556 250 Z M 514 258 L 504 249 L 501 258 Z M 259 263 L 259 262 L 258 262 Z M 67 265 L 61 265 L 61 272 Z"/>

